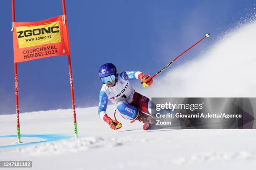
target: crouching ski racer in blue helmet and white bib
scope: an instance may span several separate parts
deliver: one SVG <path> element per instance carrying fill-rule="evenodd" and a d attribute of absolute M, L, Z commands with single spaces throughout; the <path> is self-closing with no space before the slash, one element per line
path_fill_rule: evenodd
<path fill-rule="evenodd" d="M 110 128 L 117 130 L 122 127 L 122 124 L 107 115 L 108 99 L 117 104 L 117 109 L 123 118 L 143 122 L 144 130 L 150 128 L 151 123 L 156 122 L 151 117 L 151 100 L 135 92 L 129 82 L 129 80 L 140 79 L 141 83 L 144 82 L 149 86 L 153 83 L 150 75 L 140 71 L 124 71 L 119 74 L 115 65 L 106 63 L 100 67 L 99 76 L 103 85 L 100 90 L 98 114 L 110 125 Z"/>

